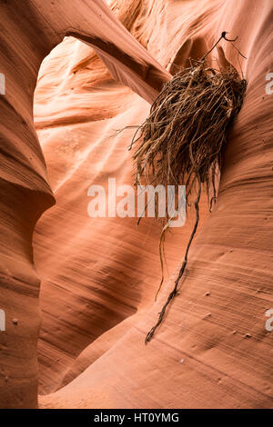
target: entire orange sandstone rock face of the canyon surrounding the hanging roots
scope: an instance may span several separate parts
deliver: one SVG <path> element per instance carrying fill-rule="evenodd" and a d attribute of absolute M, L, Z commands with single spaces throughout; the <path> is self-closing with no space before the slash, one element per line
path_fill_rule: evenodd
<path fill-rule="evenodd" d="M 272 407 L 271 2 L 116 0 L 120 22 L 101 1 L 22 4 L 0 5 L 0 406 L 35 407 L 39 368 L 46 408 Z M 224 30 L 248 57 L 222 44 L 248 91 L 217 204 L 209 216 L 202 204 L 180 294 L 146 346 L 191 218 L 167 238 L 170 278 L 155 303 L 159 224 L 91 219 L 87 189 L 132 184 L 133 130 L 115 130 L 140 124 L 177 67 Z M 39 66 L 65 35 L 85 43 L 68 37 L 45 59 L 34 127 Z"/>

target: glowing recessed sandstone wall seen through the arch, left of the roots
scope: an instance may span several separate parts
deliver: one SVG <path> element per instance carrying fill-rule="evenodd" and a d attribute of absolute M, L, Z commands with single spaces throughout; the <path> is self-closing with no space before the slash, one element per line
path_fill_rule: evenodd
<path fill-rule="evenodd" d="M 137 228 L 136 218 L 87 214 L 91 184 L 106 191 L 108 178 L 116 179 L 116 187 L 133 185 L 127 147 L 134 130 L 116 135 L 115 129 L 140 123 L 148 109 L 146 101 L 115 83 L 92 48 L 74 38 L 66 38 L 42 65 L 35 126 L 56 206 L 34 235 L 42 278 L 41 393 L 55 391 L 76 356 L 96 338 L 154 302 L 161 274 L 160 223 L 146 218 Z M 167 239 L 170 272 L 188 233 L 187 225 Z"/>

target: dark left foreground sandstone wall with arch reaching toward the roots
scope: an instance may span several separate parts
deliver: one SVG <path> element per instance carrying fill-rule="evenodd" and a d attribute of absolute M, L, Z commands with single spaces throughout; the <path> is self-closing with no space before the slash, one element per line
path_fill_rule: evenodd
<path fill-rule="evenodd" d="M 41 314 L 32 234 L 38 217 L 54 204 L 33 122 L 39 67 L 67 33 L 79 31 L 95 45 L 103 40 L 99 53 L 111 72 L 117 79 L 136 82 L 137 90 L 145 91 L 147 99 L 153 99 L 157 85 L 160 89 L 160 82 L 166 81 L 168 74 L 126 32 L 104 2 L 12 0 L 1 2 L 0 15 L 0 65 L 5 75 L 5 95 L 0 98 L 0 306 L 6 317 L 5 332 L 0 336 L 0 402 L 4 408 L 35 407 L 36 343 Z M 134 54 L 130 55 L 130 51 Z M 153 83 L 147 84 L 145 77 Z"/>

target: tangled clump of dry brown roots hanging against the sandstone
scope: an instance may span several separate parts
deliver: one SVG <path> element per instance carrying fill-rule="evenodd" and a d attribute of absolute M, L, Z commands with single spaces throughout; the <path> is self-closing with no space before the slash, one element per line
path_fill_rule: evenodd
<path fill-rule="evenodd" d="M 225 38 L 225 34 L 220 39 Z M 184 262 L 175 287 L 159 313 L 157 324 L 147 333 L 146 343 L 162 322 L 167 305 L 177 295 L 178 283 L 186 269 L 189 247 L 197 231 L 201 186 L 206 187 L 210 207 L 216 200 L 217 171 L 220 170 L 221 154 L 227 143 L 227 127 L 238 114 L 246 92 L 246 81 L 240 78 L 233 66 L 226 67 L 225 71 L 206 67 L 206 56 L 176 74 L 164 86 L 131 144 L 132 147 L 141 141 L 133 156 L 136 185 L 141 184 L 142 179 L 154 185 L 185 184 L 187 201 L 190 194 L 196 194 L 196 223 L 187 244 Z M 166 230 L 167 224 L 159 244 L 162 268 L 161 243 Z M 158 291 L 163 278 L 162 274 Z"/>

